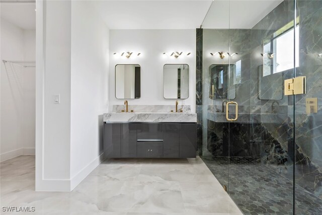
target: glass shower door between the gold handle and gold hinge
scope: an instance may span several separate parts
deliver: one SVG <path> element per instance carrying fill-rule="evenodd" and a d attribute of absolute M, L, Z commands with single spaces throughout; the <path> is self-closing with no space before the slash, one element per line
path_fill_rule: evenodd
<path fill-rule="evenodd" d="M 293 214 L 294 1 L 229 3 L 228 193 L 245 214 Z"/>

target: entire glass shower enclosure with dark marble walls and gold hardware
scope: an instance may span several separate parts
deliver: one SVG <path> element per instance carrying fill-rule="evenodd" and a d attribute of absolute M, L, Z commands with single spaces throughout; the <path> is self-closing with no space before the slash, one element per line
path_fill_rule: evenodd
<path fill-rule="evenodd" d="M 243 213 L 322 214 L 322 1 L 214 1 L 196 90 L 199 154 Z"/>

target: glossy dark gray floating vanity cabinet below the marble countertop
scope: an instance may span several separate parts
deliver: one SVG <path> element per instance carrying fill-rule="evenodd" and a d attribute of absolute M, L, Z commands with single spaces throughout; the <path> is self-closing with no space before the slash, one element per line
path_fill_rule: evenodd
<path fill-rule="evenodd" d="M 104 124 L 106 158 L 195 158 L 196 123 Z"/>

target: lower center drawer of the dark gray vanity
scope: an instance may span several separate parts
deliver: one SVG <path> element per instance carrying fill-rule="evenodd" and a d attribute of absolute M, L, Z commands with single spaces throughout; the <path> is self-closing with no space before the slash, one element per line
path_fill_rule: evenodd
<path fill-rule="evenodd" d="M 163 142 L 137 142 L 138 158 L 162 158 Z"/>

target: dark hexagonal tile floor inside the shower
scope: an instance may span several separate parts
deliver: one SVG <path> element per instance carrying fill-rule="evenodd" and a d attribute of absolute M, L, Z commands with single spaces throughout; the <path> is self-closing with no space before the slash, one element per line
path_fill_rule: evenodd
<path fill-rule="evenodd" d="M 229 180 L 229 194 L 245 214 L 293 214 L 293 182 L 274 170 L 247 157 L 202 160 L 222 185 Z M 322 199 L 296 185 L 294 214 L 322 214 Z"/>

